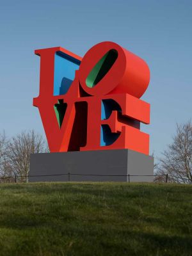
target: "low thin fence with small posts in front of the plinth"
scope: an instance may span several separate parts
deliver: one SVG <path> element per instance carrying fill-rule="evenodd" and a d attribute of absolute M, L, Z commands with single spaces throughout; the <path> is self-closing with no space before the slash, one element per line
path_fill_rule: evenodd
<path fill-rule="evenodd" d="M 28 182 L 29 177 L 51 177 L 51 176 L 63 176 L 67 175 L 67 180 L 71 181 L 73 175 L 76 176 L 97 176 L 97 177 L 128 177 L 127 182 L 131 182 L 131 177 L 154 177 L 154 182 L 168 182 L 168 178 L 172 177 L 168 174 L 154 174 L 154 175 L 100 175 L 100 174 L 77 174 L 77 173 L 60 173 L 60 174 L 49 174 L 49 175 L 12 175 L 7 177 L 0 177 L 1 183 L 17 183 L 17 182 Z"/>

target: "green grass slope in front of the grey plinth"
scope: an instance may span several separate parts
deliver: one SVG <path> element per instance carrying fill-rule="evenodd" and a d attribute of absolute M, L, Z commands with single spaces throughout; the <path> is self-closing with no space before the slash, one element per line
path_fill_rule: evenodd
<path fill-rule="evenodd" d="M 0 184 L 0 255 L 192 255 L 192 186 Z"/>

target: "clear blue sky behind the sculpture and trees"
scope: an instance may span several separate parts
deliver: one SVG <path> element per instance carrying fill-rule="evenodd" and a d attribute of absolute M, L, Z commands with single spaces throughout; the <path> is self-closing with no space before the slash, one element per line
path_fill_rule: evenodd
<path fill-rule="evenodd" d="M 191 118 L 191 0 L 1 0 L 0 131 L 35 129 L 44 134 L 38 109 L 40 58 L 34 50 L 62 46 L 83 56 L 94 44 L 113 41 L 150 67 L 150 152 L 172 141 L 176 122 Z"/>

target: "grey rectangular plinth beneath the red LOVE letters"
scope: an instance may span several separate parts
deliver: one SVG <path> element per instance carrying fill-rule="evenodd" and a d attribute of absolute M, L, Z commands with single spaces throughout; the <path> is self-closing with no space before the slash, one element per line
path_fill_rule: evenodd
<path fill-rule="evenodd" d="M 130 177 L 127 176 L 128 174 Z M 131 182 L 152 182 L 154 179 L 152 176 L 131 175 L 153 174 L 152 156 L 129 149 L 94 150 L 31 154 L 29 181 L 128 181 L 130 179 Z"/>

